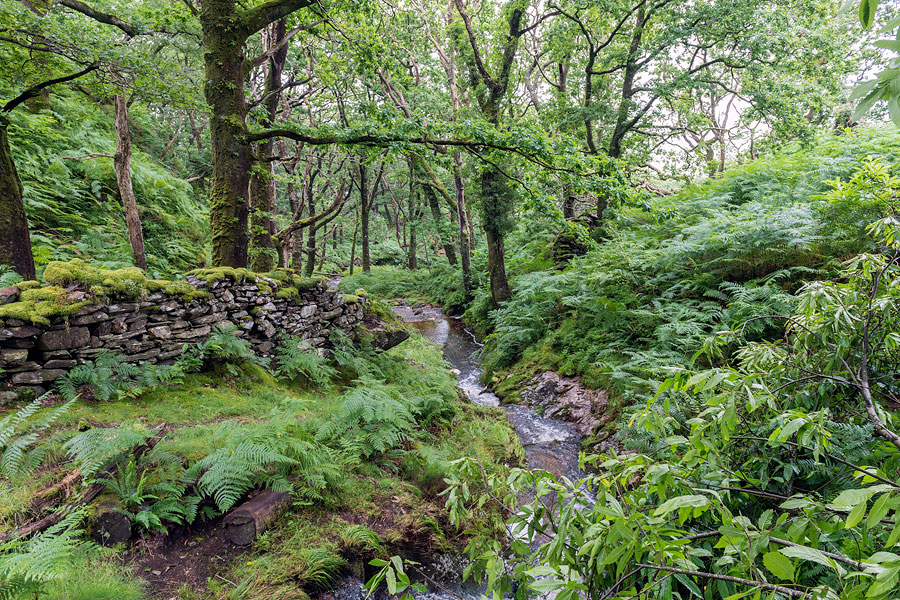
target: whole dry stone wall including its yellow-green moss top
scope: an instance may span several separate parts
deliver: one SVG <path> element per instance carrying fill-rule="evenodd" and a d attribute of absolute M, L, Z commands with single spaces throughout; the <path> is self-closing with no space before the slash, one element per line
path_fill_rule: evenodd
<path fill-rule="evenodd" d="M 44 276 L 43 284 L 0 290 L 0 404 L 43 393 L 104 349 L 133 361 L 174 360 L 219 323 L 235 325 L 261 356 L 282 335 L 321 347 L 335 328 L 359 325 L 365 303 L 286 271 L 206 269 L 155 281 L 138 269 L 72 261 L 51 263 Z"/>

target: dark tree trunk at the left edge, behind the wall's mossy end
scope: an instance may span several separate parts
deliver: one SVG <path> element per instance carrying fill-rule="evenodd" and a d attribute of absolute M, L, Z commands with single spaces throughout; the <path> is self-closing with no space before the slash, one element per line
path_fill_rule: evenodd
<path fill-rule="evenodd" d="M 25 279 L 34 279 L 22 181 L 13 162 L 7 127 L 6 115 L 0 114 L 0 264 L 11 265 Z"/>

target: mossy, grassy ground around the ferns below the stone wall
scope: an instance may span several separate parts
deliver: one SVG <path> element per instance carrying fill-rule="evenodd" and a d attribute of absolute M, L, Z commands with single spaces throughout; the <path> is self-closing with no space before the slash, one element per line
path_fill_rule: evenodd
<path fill-rule="evenodd" d="M 523 456 L 518 438 L 502 412 L 459 398 L 440 351 L 423 339 L 414 337 L 384 356 L 387 387 L 411 395 L 425 378 L 452 407 L 448 420 L 410 440 L 402 459 L 339 463 L 340 489 L 330 490 L 320 501 L 297 498 L 290 511 L 247 553 L 216 563 L 216 576 L 209 581 L 179 581 L 176 570 L 174 575 L 167 575 L 168 571 L 154 575 L 158 569 L 143 561 L 165 553 L 140 550 L 153 547 L 153 540 L 159 538 L 153 534 L 130 550 L 120 548 L 103 559 L 83 561 L 79 567 L 82 575 L 90 576 L 55 586 L 42 598 L 213 599 L 230 597 L 236 588 L 245 600 L 303 598 L 327 587 L 337 574 L 361 569 L 374 556 L 461 548 L 463 534 L 448 524 L 438 495 L 448 463 L 462 456 L 518 463 Z M 34 516 L 29 512 L 34 493 L 67 472 L 62 443 L 80 429 L 131 422 L 149 428 L 164 422 L 172 431 L 158 448 L 185 460 L 198 460 L 221 447 L 235 429 L 264 427 L 286 419 L 315 427 L 341 407 L 342 394 L 354 385 L 339 380 L 327 390 L 305 389 L 247 365 L 236 376 L 224 371 L 189 375 L 182 383 L 133 399 L 79 401 L 54 426 L 50 466 L 21 481 L 0 479 L 0 530 Z M 185 544 L 204 534 L 194 535 L 185 537 Z M 182 547 L 178 550 L 184 552 Z M 187 557 L 185 560 L 198 564 L 217 560 L 192 558 L 190 553 Z M 114 566 L 123 562 L 124 569 Z M 127 576 L 113 576 L 116 569 Z M 97 588 L 101 583 L 105 587 Z"/>

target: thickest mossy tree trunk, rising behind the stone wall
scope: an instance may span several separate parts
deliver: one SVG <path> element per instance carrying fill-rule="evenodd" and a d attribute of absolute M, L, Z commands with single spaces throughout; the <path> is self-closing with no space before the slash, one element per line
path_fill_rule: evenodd
<path fill-rule="evenodd" d="M 313 2 L 266 0 L 245 9 L 235 0 L 200 0 L 204 94 L 210 107 L 209 209 L 215 265 L 247 266 L 253 155 L 247 139 L 244 45 L 252 34 Z"/>

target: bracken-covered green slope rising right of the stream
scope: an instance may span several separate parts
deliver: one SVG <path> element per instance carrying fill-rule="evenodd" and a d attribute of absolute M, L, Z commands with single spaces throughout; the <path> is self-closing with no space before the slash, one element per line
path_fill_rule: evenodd
<path fill-rule="evenodd" d="M 507 242 L 512 298 L 492 310 L 482 289 L 465 314 L 490 333 L 486 380 L 499 374 L 498 391 L 515 399 L 512 381 L 552 369 L 629 405 L 671 367 L 727 360 L 728 349 L 704 352 L 716 331 L 747 323 L 751 341 L 779 335 L 782 323 L 763 317 L 790 314 L 805 282 L 871 248 L 865 226 L 896 209 L 897 156 L 892 130 L 789 147 L 614 207 L 597 247 L 563 265 L 551 260 L 549 226 L 523 225 Z"/>

